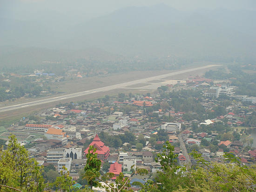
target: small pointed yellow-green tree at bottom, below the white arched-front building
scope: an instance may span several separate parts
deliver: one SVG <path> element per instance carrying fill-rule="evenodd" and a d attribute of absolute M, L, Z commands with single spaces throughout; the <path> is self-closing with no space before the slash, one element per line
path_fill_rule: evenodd
<path fill-rule="evenodd" d="M 69 171 L 65 166 L 61 169 L 61 177 L 57 177 L 54 186 L 57 189 L 61 189 L 63 192 L 70 192 L 74 189 L 75 182 L 72 180 L 72 177 L 69 176 Z"/>

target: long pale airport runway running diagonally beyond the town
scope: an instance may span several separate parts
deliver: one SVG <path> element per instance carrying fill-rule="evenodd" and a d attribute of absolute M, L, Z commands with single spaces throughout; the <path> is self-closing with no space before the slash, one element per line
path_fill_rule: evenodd
<path fill-rule="evenodd" d="M 149 78 L 145 78 L 145 79 L 133 80 L 133 81 L 129 81 L 126 83 L 120 83 L 120 84 L 116 84 L 116 85 L 112 85 L 112 86 L 104 86 L 101 88 L 91 89 L 91 90 L 87 90 L 87 91 L 83 91 L 83 92 L 71 93 L 71 94 L 47 98 L 47 99 L 40 99 L 40 100 L 30 101 L 30 102 L 26 102 L 26 103 L 17 104 L 17 105 L 4 106 L 4 107 L 0 107 L 0 113 L 7 112 L 7 111 L 13 111 L 16 109 L 22 109 L 22 108 L 26 108 L 26 107 L 30 107 L 30 106 L 47 104 L 47 103 L 51 103 L 54 101 L 71 99 L 71 98 L 80 97 L 80 96 L 84 96 L 84 95 L 88 95 L 88 94 L 92 94 L 92 93 L 106 92 L 106 91 L 110 91 L 110 90 L 114 90 L 114 89 L 118 89 L 118 88 L 123 88 L 126 86 L 131 86 L 131 85 L 135 85 L 135 84 L 139 84 L 139 83 L 145 83 L 145 82 L 156 80 L 156 79 L 163 79 L 163 78 L 173 76 L 173 75 L 188 73 L 188 72 L 197 71 L 197 70 L 201 70 L 201 69 L 207 69 L 207 68 L 214 67 L 214 66 L 218 66 L 218 65 L 201 66 L 201 67 L 181 70 L 181 71 L 177 71 L 177 72 L 173 72 L 173 73 L 157 75 L 157 76 L 153 76 L 153 77 L 149 77 Z"/>

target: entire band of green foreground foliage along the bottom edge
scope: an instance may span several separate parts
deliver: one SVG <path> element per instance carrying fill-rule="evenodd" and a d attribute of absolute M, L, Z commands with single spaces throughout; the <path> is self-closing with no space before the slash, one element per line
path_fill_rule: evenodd
<path fill-rule="evenodd" d="M 46 183 L 42 177 L 43 167 L 35 159 L 29 158 L 27 150 L 18 144 L 11 135 L 6 150 L 0 150 L 0 192 L 43 192 L 54 189 L 62 192 L 92 192 L 92 187 L 104 188 L 107 192 L 132 192 L 130 178 L 120 173 L 115 182 L 109 182 L 113 173 L 100 174 L 101 160 L 97 158 L 94 146 L 89 147 L 88 161 L 84 178 L 89 187 L 78 190 L 65 167 L 53 183 Z M 192 168 L 178 166 L 174 146 L 168 141 L 163 145 L 162 153 L 157 154 L 156 162 L 162 166 L 144 185 L 141 192 L 254 192 L 256 190 L 256 166 L 244 166 L 232 154 L 224 155 L 224 163 L 209 163 L 198 152 L 191 155 L 198 165 Z M 47 171 L 47 170 L 45 170 Z M 48 170 L 52 171 L 52 169 Z M 131 174 L 148 174 L 145 169 L 136 168 Z M 102 185 L 101 183 L 106 185 Z M 13 187 L 14 189 L 11 189 Z M 91 189 L 89 189 L 91 188 Z"/>

